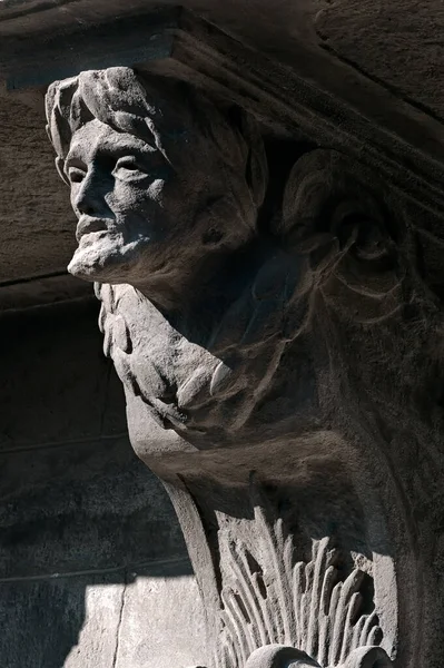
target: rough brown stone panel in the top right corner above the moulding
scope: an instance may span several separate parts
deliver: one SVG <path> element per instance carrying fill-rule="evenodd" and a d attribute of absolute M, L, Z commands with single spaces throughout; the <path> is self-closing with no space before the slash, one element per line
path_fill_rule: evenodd
<path fill-rule="evenodd" d="M 444 50 L 440 2 L 395 0 L 315 0 L 314 28 L 322 48 L 408 99 L 444 118 L 444 89 L 438 72 Z"/>

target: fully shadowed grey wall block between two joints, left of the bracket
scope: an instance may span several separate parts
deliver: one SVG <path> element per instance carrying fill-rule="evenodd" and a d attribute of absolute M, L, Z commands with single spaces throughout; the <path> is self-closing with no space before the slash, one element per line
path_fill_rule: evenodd
<path fill-rule="evenodd" d="M 186 556 L 165 491 L 125 438 L 8 453 L 0 471 L 0 579 Z"/>

